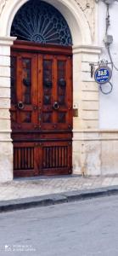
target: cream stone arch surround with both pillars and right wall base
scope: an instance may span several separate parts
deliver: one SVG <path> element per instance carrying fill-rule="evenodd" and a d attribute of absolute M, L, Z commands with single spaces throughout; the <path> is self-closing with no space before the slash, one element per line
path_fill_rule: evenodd
<path fill-rule="evenodd" d="M 98 61 L 98 5 L 94 0 L 47 0 L 59 9 L 73 37 L 73 172 L 87 175 L 117 173 L 118 131 L 99 130 L 99 91 L 90 62 Z M 0 0 L 0 181 L 13 178 L 10 128 L 10 22 L 26 0 Z M 4 21 L 3 21 L 4 20 Z M 96 45 L 96 46 L 95 46 Z"/>

